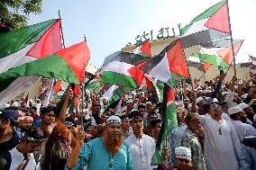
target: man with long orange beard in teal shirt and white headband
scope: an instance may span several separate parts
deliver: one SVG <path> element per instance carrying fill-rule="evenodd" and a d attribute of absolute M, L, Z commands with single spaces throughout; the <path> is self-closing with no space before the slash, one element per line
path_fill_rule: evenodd
<path fill-rule="evenodd" d="M 78 154 L 79 153 L 79 154 Z M 102 138 L 90 140 L 83 148 L 77 144 L 69 156 L 66 169 L 130 170 L 133 168 L 130 148 L 123 142 L 121 120 L 110 116 Z"/>

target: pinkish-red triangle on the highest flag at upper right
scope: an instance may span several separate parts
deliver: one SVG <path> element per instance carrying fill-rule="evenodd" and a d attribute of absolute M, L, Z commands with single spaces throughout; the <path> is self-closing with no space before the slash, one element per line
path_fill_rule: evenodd
<path fill-rule="evenodd" d="M 205 23 L 205 26 L 216 31 L 223 31 L 231 33 L 228 19 L 227 4 L 225 3 L 209 20 Z"/>

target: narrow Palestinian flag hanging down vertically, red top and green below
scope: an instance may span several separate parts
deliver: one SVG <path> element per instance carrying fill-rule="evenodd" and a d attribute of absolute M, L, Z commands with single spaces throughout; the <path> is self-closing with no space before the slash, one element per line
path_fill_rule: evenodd
<path fill-rule="evenodd" d="M 162 114 L 162 123 L 160 129 L 160 137 L 157 140 L 155 154 L 152 157 L 151 165 L 161 165 L 164 156 L 164 144 L 167 135 L 170 130 L 178 127 L 177 114 L 176 114 L 176 105 L 175 105 L 175 94 L 171 87 L 168 85 L 164 86 L 164 100 L 163 105 L 166 107 L 163 108 Z"/>

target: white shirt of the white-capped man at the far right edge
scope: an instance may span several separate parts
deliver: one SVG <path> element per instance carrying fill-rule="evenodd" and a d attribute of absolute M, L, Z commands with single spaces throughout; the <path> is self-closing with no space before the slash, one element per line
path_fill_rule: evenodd
<path fill-rule="evenodd" d="M 256 130 L 250 124 L 242 123 L 242 121 L 231 122 L 233 123 L 241 143 L 244 137 L 256 136 Z"/>

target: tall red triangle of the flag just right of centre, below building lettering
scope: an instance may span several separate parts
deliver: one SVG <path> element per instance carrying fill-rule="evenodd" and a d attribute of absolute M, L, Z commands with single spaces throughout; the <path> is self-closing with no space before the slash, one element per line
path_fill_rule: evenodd
<path fill-rule="evenodd" d="M 176 44 L 169 49 L 167 58 L 170 72 L 189 78 L 187 62 L 183 53 L 181 40 L 177 40 Z"/>

